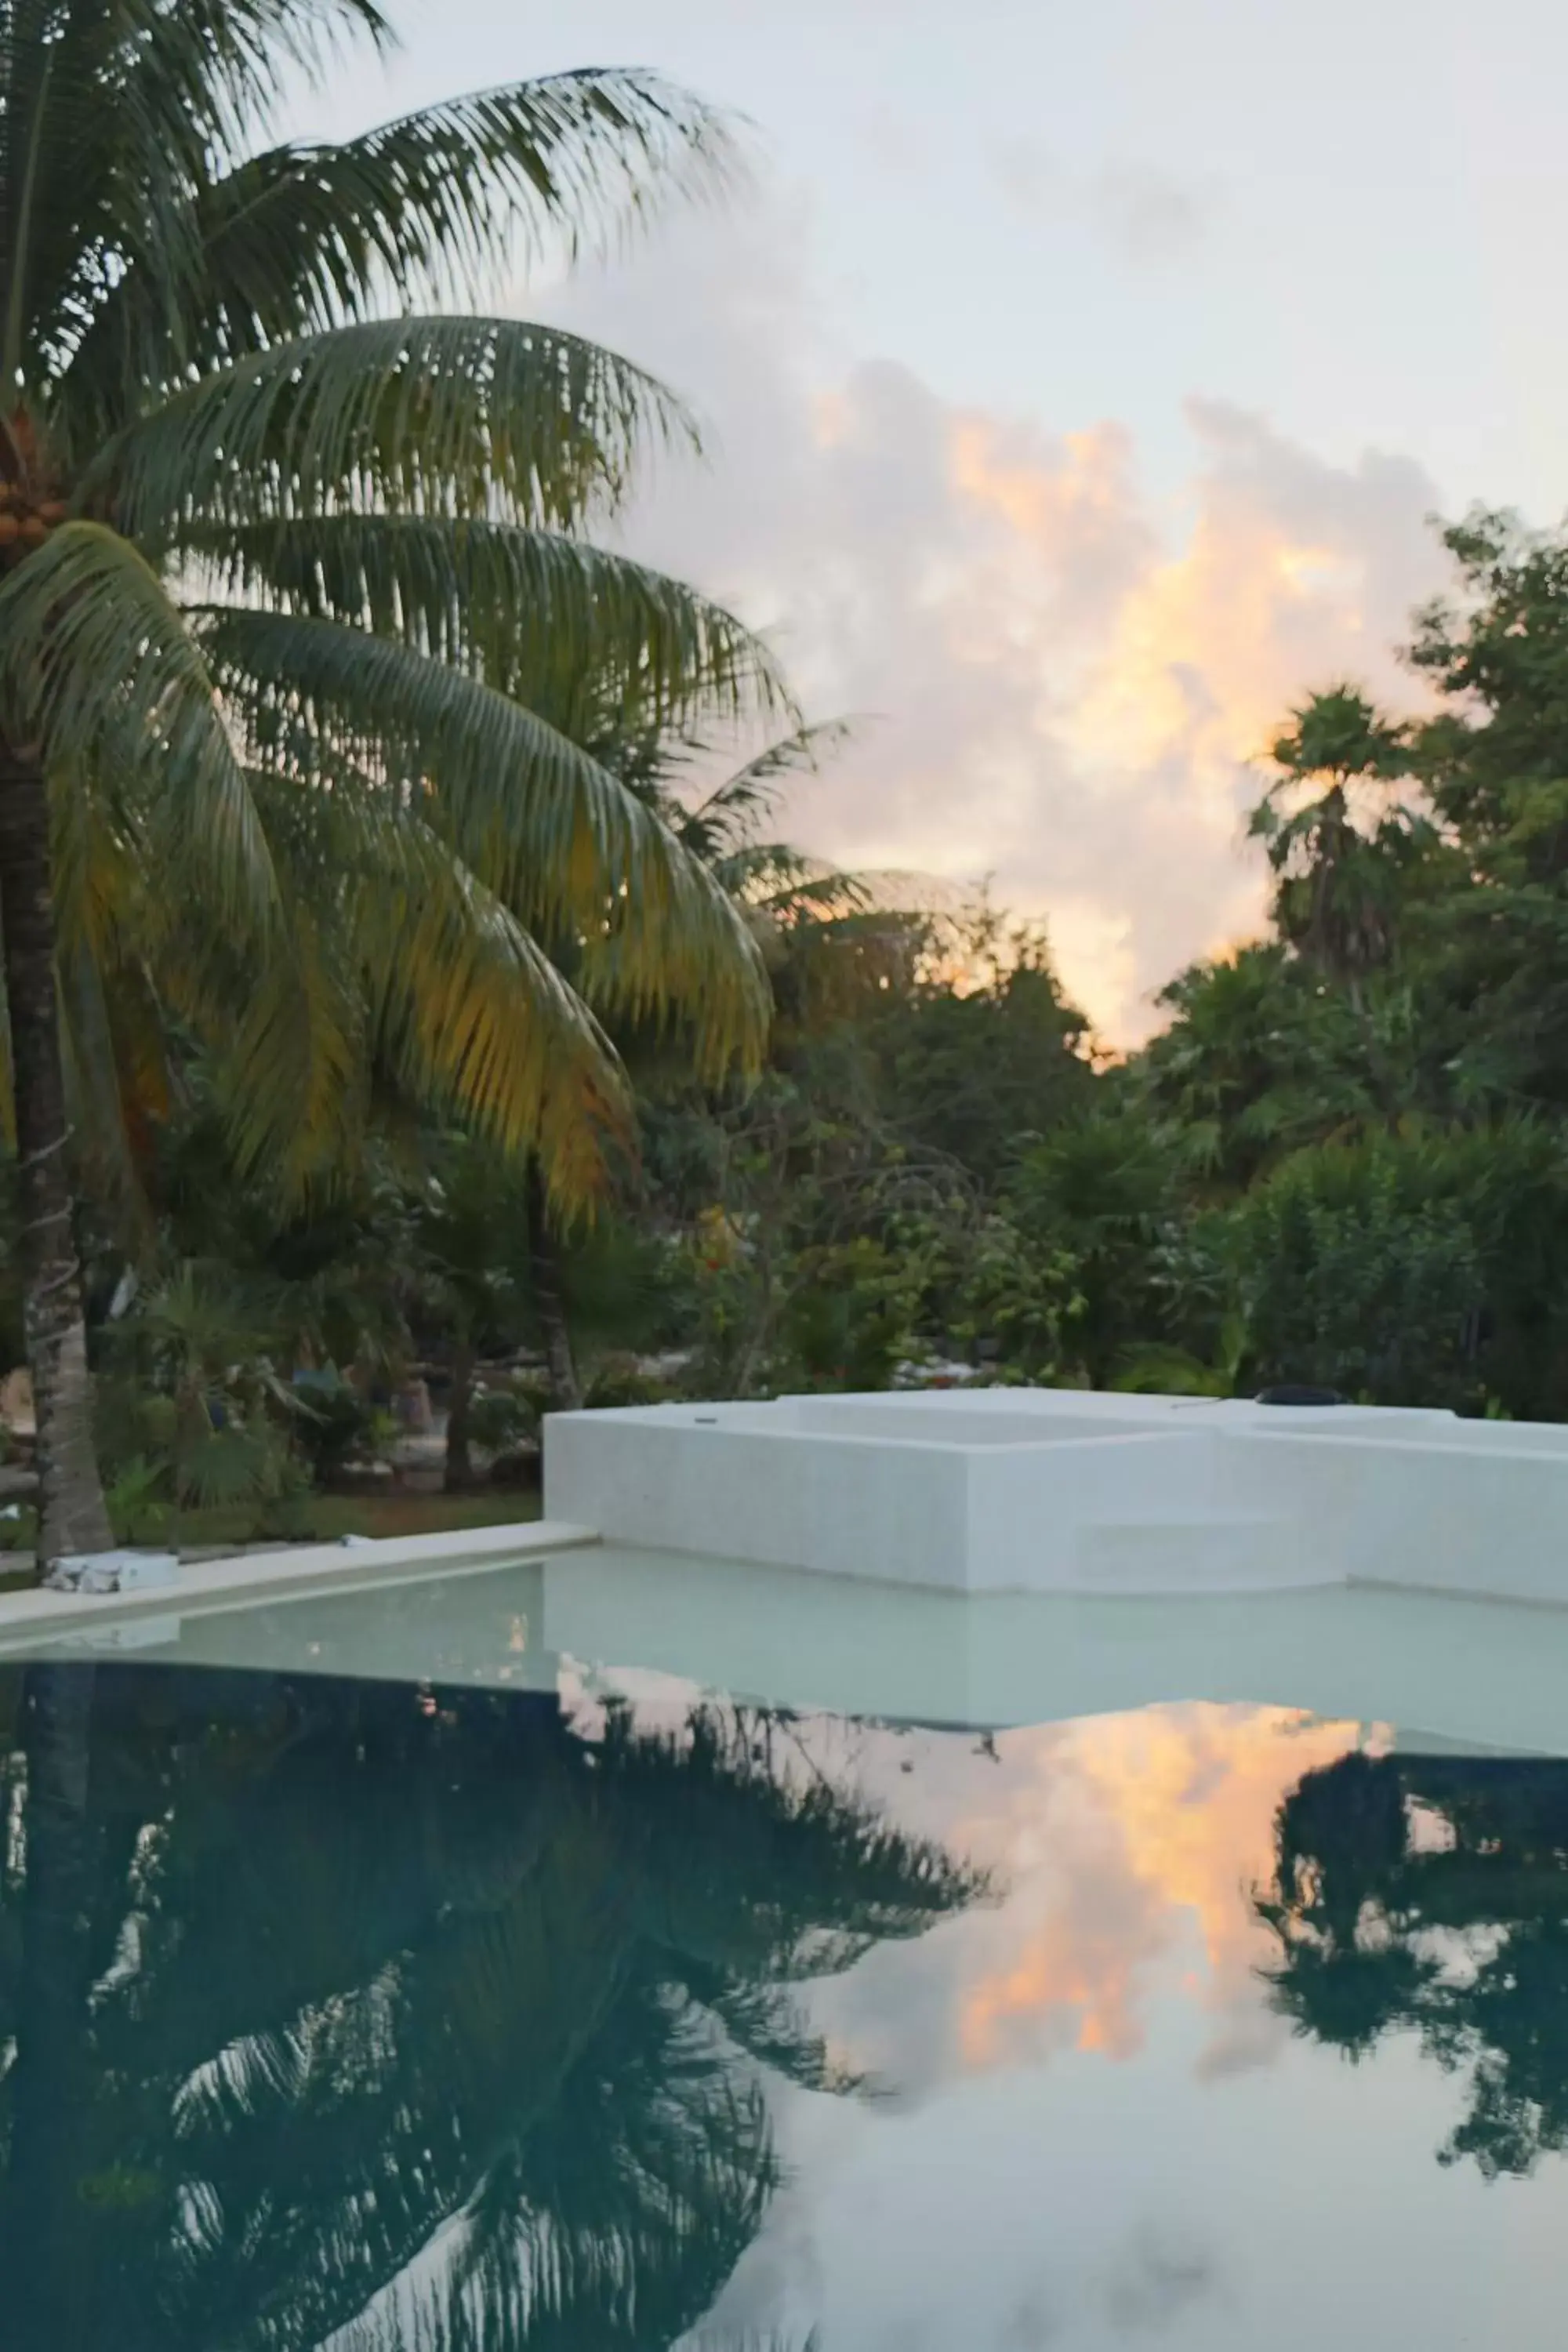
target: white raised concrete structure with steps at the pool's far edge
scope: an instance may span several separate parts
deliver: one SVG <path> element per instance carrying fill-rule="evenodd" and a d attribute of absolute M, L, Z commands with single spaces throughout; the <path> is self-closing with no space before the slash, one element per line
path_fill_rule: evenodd
<path fill-rule="evenodd" d="M 1568 1428 L 1441 1411 L 990 1388 L 562 1414 L 545 1512 L 957 1592 L 1568 1602 Z"/>

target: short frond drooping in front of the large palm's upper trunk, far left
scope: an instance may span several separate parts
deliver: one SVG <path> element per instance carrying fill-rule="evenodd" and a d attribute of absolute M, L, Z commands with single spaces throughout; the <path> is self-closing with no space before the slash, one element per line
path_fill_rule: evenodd
<path fill-rule="evenodd" d="M 66 522 L 0 583 L 0 708 L 54 774 L 150 779 L 153 833 L 200 842 L 221 917 L 266 927 L 275 875 L 212 673 L 118 532 Z"/>

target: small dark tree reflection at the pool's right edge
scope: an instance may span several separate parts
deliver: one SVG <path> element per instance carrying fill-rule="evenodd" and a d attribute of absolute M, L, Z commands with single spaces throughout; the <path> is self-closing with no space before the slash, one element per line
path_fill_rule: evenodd
<path fill-rule="evenodd" d="M 1467 2072 L 1441 2150 L 1488 2178 L 1568 2150 L 1568 1762 L 1342 1757 L 1279 1809 L 1269 1983 L 1366 2056 L 1408 2027 Z"/>

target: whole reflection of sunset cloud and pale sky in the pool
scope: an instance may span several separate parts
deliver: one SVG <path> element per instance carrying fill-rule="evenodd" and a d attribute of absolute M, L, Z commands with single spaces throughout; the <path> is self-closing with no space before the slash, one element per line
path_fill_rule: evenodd
<path fill-rule="evenodd" d="M 823 2352 L 1453 2352 L 1507 2312 L 1512 2352 L 1556 2352 L 1568 2176 L 1497 2197 L 1439 2164 L 1455 2082 L 1413 2034 L 1352 2067 L 1269 2004 L 1253 1896 L 1279 1804 L 1382 1736 L 1239 1705 L 994 1755 L 792 1731 L 905 1835 L 985 1865 L 992 1900 L 802 1987 L 882 2096 L 780 2091 L 785 2185 L 708 2326 L 816 2326 Z"/>

